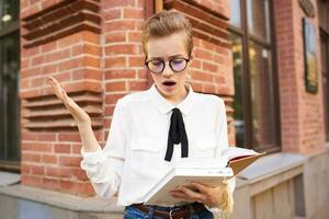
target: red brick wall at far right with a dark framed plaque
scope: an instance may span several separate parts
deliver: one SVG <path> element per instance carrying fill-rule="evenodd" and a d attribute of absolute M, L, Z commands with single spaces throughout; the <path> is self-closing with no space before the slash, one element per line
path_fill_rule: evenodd
<path fill-rule="evenodd" d="M 315 0 L 311 1 L 316 7 Z M 305 89 L 302 19 L 305 15 L 298 1 L 274 0 L 276 48 L 281 93 L 282 149 L 314 153 L 324 149 L 324 103 L 318 61 L 317 94 Z M 317 13 L 313 23 L 318 31 Z M 317 60 L 320 60 L 317 44 Z"/>

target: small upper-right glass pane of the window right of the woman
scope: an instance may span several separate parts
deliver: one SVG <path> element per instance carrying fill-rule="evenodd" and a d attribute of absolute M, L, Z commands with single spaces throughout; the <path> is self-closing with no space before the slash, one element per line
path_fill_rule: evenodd
<path fill-rule="evenodd" d="M 269 0 L 247 0 L 248 31 L 270 41 Z"/>

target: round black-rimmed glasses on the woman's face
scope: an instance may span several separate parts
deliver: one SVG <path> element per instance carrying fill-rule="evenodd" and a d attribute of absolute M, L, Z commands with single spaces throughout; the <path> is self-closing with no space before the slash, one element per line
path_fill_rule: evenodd
<path fill-rule="evenodd" d="M 181 72 L 186 68 L 190 59 L 177 57 L 177 58 L 169 59 L 168 61 L 169 61 L 169 67 L 173 72 Z M 162 59 L 151 59 L 145 61 L 145 65 L 148 68 L 148 70 L 150 70 L 152 73 L 162 73 L 162 71 L 166 68 L 166 62 L 167 61 L 163 61 Z"/>

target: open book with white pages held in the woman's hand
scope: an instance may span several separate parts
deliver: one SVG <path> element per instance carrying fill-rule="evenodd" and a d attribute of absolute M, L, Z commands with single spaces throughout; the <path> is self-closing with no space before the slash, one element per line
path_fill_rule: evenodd
<path fill-rule="evenodd" d="M 224 180 L 237 175 L 264 154 L 249 149 L 229 147 L 222 151 L 220 159 L 182 159 L 149 189 L 144 197 L 144 204 L 180 205 L 184 201 L 172 197 L 170 191 L 182 185 L 194 189 L 191 185 L 194 181 L 209 186 L 219 185 Z"/>

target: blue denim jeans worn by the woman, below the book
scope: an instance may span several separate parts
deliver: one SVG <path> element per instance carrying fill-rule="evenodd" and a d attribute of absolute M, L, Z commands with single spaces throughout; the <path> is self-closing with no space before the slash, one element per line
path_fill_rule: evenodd
<path fill-rule="evenodd" d="M 172 208 L 174 208 L 174 207 L 172 207 Z M 138 210 L 137 208 L 135 208 L 133 206 L 126 206 L 125 210 L 124 210 L 123 219 L 162 219 L 160 217 L 154 216 L 152 209 L 169 211 L 172 208 L 163 207 L 163 206 L 155 206 L 154 208 L 150 208 L 151 210 L 149 210 L 148 214 L 146 214 L 146 212 Z M 186 219 L 214 219 L 214 216 L 211 211 L 208 211 L 207 209 L 204 209 L 198 212 L 192 212 L 191 216 Z"/>

